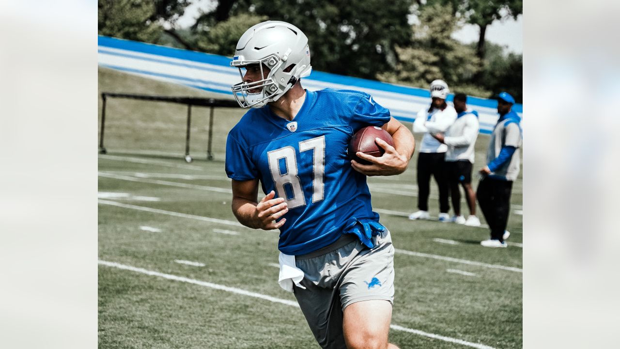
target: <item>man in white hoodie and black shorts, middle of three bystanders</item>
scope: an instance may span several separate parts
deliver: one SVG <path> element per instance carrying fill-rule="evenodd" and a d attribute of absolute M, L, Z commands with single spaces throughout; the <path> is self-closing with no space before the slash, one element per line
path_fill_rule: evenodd
<path fill-rule="evenodd" d="M 467 110 L 467 96 L 463 93 L 454 95 L 454 110 L 458 113 L 456 121 L 445 134 L 435 134 L 433 137 L 448 146 L 446 152 L 446 176 L 452 196 L 454 217 L 452 221 L 471 227 L 479 227 L 480 220 L 476 217 L 476 192 L 471 186 L 471 171 L 474 164 L 474 147 L 480 130 L 478 112 Z M 467 220 L 461 215 L 461 191 L 463 186 L 469 217 Z"/>

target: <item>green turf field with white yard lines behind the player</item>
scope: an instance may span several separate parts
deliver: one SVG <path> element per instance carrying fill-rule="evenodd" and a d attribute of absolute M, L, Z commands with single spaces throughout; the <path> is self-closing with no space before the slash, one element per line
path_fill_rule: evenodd
<path fill-rule="evenodd" d="M 99 91 L 211 96 L 102 68 Z M 319 348 L 293 294 L 277 284 L 277 232 L 242 227 L 230 209 L 224 142 L 242 110 L 216 111 L 215 161 L 206 161 L 208 109 L 200 109 L 193 114 L 196 160 L 187 164 L 185 107 L 108 100 L 108 154 L 99 155 L 99 347 Z M 478 138 L 475 169 L 488 141 Z M 483 248 L 487 229 L 404 217 L 417 211 L 416 160 L 399 176 L 368 181 L 397 248 L 391 342 L 522 347 L 521 178 L 513 186 L 509 247 Z M 464 202 L 461 210 L 467 214 Z"/>

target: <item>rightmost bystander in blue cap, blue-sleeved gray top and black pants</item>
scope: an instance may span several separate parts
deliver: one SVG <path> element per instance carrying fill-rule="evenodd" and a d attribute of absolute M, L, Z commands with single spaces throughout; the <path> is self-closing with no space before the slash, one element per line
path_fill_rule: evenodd
<path fill-rule="evenodd" d="M 489 224 L 491 237 L 480 242 L 484 247 L 507 247 L 504 241 L 510 233 L 506 230 L 510 213 L 512 183 L 520 171 L 519 148 L 523 143 L 521 117 L 511 111 L 515 99 L 502 92 L 497 99 L 500 118 L 491 134 L 487 165 L 480 169 L 483 178 L 476 196 L 484 218 Z"/>

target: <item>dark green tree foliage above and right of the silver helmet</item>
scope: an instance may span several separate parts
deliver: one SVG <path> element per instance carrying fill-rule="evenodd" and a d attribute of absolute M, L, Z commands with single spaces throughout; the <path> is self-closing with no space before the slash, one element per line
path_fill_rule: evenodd
<path fill-rule="evenodd" d="M 396 45 L 410 40 L 412 0 L 241 1 L 236 13 L 252 12 L 291 22 L 308 36 L 312 66 L 330 73 L 374 79 L 396 63 Z"/>

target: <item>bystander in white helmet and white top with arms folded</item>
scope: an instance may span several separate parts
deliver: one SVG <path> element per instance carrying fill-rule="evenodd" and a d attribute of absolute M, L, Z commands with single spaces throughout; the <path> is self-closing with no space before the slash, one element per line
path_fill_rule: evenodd
<path fill-rule="evenodd" d="M 448 211 L 449 186 L 446 179 L 445 155 L 448 146 L 436 140 L 432 134 L 445 132 L 456 120 L 456 111 L 446 103 L 449 93 L 448 84 L 435 80 L 430 84 L 432 98 L 428 109 L 422 109 L 415 117 L 414 132 L 425 134 L 420 143 L 417 163 L 418 209 L 409 215 L 409 219 L 429 219 L 428 194 L 430 194 L 430 177 L 433 176 L 439 187 L 439 220 L 449 222 Z"/>

